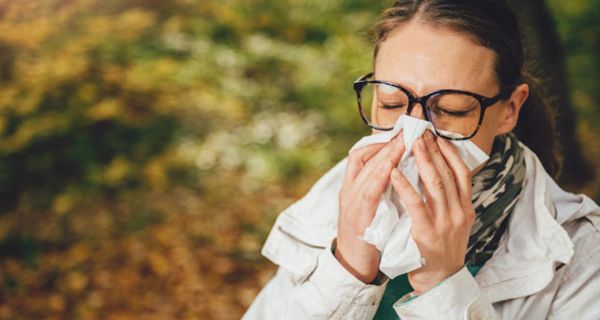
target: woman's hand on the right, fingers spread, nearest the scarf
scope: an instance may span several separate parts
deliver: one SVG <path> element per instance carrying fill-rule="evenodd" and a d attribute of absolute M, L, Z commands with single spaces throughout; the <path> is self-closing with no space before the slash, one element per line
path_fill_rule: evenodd
<path fill-rule="evenodd" d="M 413 152 L 425 201 L 398 169 L 392 171 L 392 185 L 412 219 L 411 234 L 425 259 L 423 267 L 408 274 L 418 294 L 462 269 L 475 219 L 470 170 L 448 140 L 429 130 L 423 136 Z"/>

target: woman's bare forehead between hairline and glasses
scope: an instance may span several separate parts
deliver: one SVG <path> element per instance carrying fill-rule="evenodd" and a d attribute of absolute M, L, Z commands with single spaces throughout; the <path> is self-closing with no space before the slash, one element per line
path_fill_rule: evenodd
<path fill-rule="evenodd" d="M 448 28 L 412 20 L 380 44 L 375 77 L 407 86 L 418 95 L 458 89 L 494 95 L 494 52 Z"/>

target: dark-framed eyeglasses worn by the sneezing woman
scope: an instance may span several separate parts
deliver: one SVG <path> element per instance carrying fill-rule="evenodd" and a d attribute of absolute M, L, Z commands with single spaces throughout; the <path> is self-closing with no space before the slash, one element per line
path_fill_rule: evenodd
<path fill-rule="evenodd" d="M 436 134 L 449 140 L 473 137 L 483 121 L 485 109 L 507 97 L 514 86 L 505 87 L 496 96 L 484 97 L 472 92 L 443 89 L 423 97 L 393 83 L 370 79 L 373 73 L 354 81 L 358 110 L 363 121 L 376 130 L 392 130 L 398 118 L 410 115 L 415 104 L 424 109 L 425 119 Z"/>

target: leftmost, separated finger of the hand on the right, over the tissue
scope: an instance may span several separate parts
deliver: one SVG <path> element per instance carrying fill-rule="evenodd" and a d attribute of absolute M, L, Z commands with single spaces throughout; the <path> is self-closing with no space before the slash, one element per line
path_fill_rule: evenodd
<path fill-rule="evenodd" d="M 416 232 L 430 230 L 432 221 L 423 199 L 400 170 L 396 168 L 392 170 L 392 186 L 398 192 L 404 206 L 406 206 L 408 215 L 412 219 L 413 229 Z"/>

